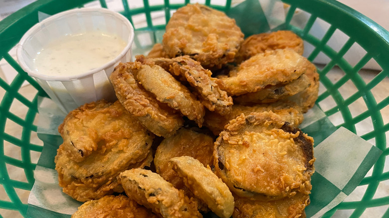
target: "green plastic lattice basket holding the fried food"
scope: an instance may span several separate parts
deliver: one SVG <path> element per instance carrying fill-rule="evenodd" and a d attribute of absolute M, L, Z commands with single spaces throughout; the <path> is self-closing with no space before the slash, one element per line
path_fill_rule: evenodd
<path fill-rule="evenodd" d="M 11 84 L 0 80 L 0 87 L 3 89 L 4 96 L 0 104 L 0 217 L 1 214 L 7 217 L 25 216 L 27 209 L 27 200 L 29 190 L 34 183 L 34 169 L 36 163 L 31 163 L 32 159 L 42 150 L 42 142 L 36 138 L 36 119 L 37 119 L 37 99 L 39 96 L 46 96 L 40 86 L 30 78 L 9 55 L 10 49 L 15 46 L 22 35 L 35 23 L 38 22 L 38 11 L 54 14 L 74 7 L 82 7 L 90 0 L 37 0 L 36 2 L 11 14 L 0 22 L 0 60 L 4 59 L 14 68 L 18 75 Z M 177 2 L 178 0 L 174 0 Z M 250 2 L 252 0 L 247 0 Z M 325 114 L 331 119 L 333 116 L 339 116 L 343 119 L 342 123 L 334 123 L 336 127 L 344 126 L 352 132 L 358 134 L 365 140 L 375 144 L 384 151 L 369 176 L 365 177 L 360 187 L 365 187 L 364 195 L 360 201 L 343 202 L 333 210 L 327 212 L 323 217 L 331 217 L 337 210 L 353 210 L 351 217 L 360 217 L 367 209 L 375 207 L 386 207 L 386 213 L 382 217 L 389 217 L 389 196 L 375 196 L 380 183 L 389 181 L 388 169 L 384 170 L 385 161 L 389 154 L 387 148 L 387 138 L 389 138 L 388 120 L 384 120 L 382 113 L 389 114 L 389 97 L 387 93 L 377 93 L 377 87 L 383 86 L 387 82 L 389 75 L 389 33 L 377 23 L 362 15 L 361 13 L 347 7 L 334 0 L 283 0 L 289 4 L 289 10 L 286 14 L 285 22 L 281 23 L 275 29 L 289 29 L 296 32 L 306 43 L 311 44 L 314 50 L 309 54 L 310 61 L 320 54 L 327 56 L 330 61 L 328 64 L 319 68 L 322 90 L 320 92 L 317 104 L 325 110 Z M 154 41 L 161 39 L 165 24 L 153 25 L 153 11 L 164 11 L 166 21 L 169 20 L 171 12 L 175 9 L 190 3 L 190 0 L 182 0 L 182 3 L 169 3 L 169 0 L 160 0 L 160 4 L 150 5 L 148 0 L 143 0 L 143 6 L 132 8 L 133 0 L 122 0 L 124 14 L 130 21 L 134 16 L 145 16 L 147 26 L 137 28 L 137 30 L 152 31 Z M 173 1 L 172 1 L 173 2 Z M 226 0 L 225 5 L 212 4 L 212 0 L 203 0 L 203 3 L 216 9 L 228 13 L 231 0 Z M 107 7 L 105 0 L 100 0 L 102 7 Z M 247 6 L 247 15 L 253 19 L 266 19 L 262 11 Z M 305 27 L 299 28 L 292 25 L 296 10 L 306 11 L 310 14 Z M 329 28 L 324 36 L 319 39 L 310 30 L 315 20 L 321 19 L 329 24 Z M 247 24 L 249 25 L 249 24 Z M 242 28 L 245 31 L 244 28 Z M 268 31 L 268 25 L 258 26 L 258 31 Z M 328 45 L 329 40 L 337 31 L 343 32 L 349 38 L 339 49 L 333 49 Z M 250 32 L 245 31 L 246 36 Z M 137 42 L 137 39 L 135 40 Z M 349 64 L 344 58 L 349 49 L 358 44 L 366 54 L 360 58 L 357 64 Z M 364 80 L 359 71 L 370 61 L 374 59 L 383 69 L 376 73 L 369 80 Z M 341 78 L 332 78 L 332 70 L 340 68 L 344 72 Z M 6 73 L 6 72 L 5 72 Z M 29 83 L 28 96 L 22 96 L 19 92 L 23 83 Z M 344 85 L 352 85 L 355 93 L 352 95 L 342 95 Z M 30 92 L 31 90 L 31 92 Z M 363 103 L 359 111 L 353 111 L 350 107 L 355 102 Z M 13 110 L 16 107 L 26 108 L 25 114 L 16 114 Z M 366 122 L 371 123 L 371 129 L 360 131 L 361 125 Z M 8 126 L 8 128 L 5 128 Z M 9 127 L 11 126 L 11 127 Z M 18 135 L 12 135 L 6 129 L 13 128 L 20 131 Z M 4 148 L 20 150 L 20 157 L 11 157 L 6 155 Z M 31 156 L 35 156 L 31 158 Z M 389 164 L 388 164 L 389 165 Z M 15 180 L 12 172 L 21 171 L 25 174 L 23 181 Z M 388 183 L 387 183 L 388 184 Z M 358 187 L 357 187 L 358 189 Z M 5 199 L 5 200 L 3 200 Z M 11 213 L 14 211 L 14 213 Z"/>

